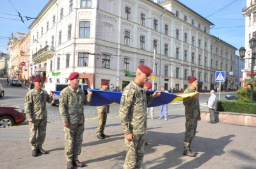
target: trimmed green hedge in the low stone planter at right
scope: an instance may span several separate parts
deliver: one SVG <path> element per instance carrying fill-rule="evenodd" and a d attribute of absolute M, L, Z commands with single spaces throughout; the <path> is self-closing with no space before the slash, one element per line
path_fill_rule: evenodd
<path fill-rule="evenodd" d="M 234 112 L 241 114 L 256 114 L 256 103 L 244 103 L 242 101 L 218 100 L 216 111 Z"/>

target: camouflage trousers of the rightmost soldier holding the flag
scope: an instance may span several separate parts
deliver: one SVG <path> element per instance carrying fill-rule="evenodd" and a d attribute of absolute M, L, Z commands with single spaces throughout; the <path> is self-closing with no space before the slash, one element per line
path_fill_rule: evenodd
<path fill-rule="evenodd" d="M 186 120 L 186 131 L 183 144 L 184 151 L 190 150 L 191 142 L 196 135 L 197 122 L 197 119 Z"/>

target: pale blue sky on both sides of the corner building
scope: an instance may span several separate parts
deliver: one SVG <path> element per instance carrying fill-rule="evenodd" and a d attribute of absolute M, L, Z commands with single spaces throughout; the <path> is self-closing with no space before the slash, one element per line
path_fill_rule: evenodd
<path fill-rule="evenodd" d="M 210 34 L 239 49 L 244 47 L 244 16 L 246 0 L 179 0 L 191 10 L 214 24 Z M 0 51 L 7 53 L 8 39 L 18 31 L 29 33 L 29 25 L 49 0 L 1 0 Z M 22 16 L 24 23 L 19 17 Z M 239 54 L 238 50 L 236 54 Z"/>

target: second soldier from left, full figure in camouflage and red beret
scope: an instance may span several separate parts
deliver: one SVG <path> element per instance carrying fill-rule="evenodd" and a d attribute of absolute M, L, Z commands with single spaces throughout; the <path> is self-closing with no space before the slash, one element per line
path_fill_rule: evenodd
<path fill-rule="evenodd" d="M 67 168 L 72 169 L 73 165 L 84 167 L 83 163 L 78 161 L 78 155 L 81 154 L 83 133 L 84 133 L 84 105 L 89 105 L 92 99 L 92 91 L 88 95 L 79 89 L 79 73 L 71 73 L 68 77 L 70 85 L 60 93 L 59 111 L 63 119 L 65 134 L 65 157 L 67 159 Z"/>

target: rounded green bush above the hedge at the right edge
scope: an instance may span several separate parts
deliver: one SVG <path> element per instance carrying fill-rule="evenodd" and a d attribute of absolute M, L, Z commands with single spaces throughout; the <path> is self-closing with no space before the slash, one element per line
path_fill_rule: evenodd
<path fill-rule="evenodd" d="M 253 89 L 253 101 L 256 103 L 256 87 Z M 250 87 L 243 87 L 239 88 L 239 90 L 236 92 L 236 96 L 238 98 L 238 101 L 242 101 L 244 103 L 250 103 L 251 98 L 251 88 Z"/>

